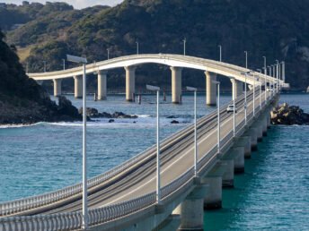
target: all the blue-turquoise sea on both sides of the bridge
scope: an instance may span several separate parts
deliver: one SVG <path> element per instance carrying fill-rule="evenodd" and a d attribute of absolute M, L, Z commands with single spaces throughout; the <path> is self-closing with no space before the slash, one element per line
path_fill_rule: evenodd
<path fill-rule="evenodd" d="M 82 100 L 67 96 L 76 107 Z M 172 105 L 161 98 L 161 139 L 193 121 L 193 97 Z M 231 100 L 221 97 L 221 104 Z M 309 95 L 283 94 L 280 103 L 309 112 Z M 206 107 L 198 96 L 198 115 Z M 137 119 L 99 119 L 87 124 L 88 175 L 101 174 L 155 143 L 155 96 L 143 95 L 142 104 L 126 103 L 123 95 L 106 101 L 87 97 L 87 107 L 100 112 L 121 111 Z M 180 124 L 170 124 L 176 116 Z M 134 123 L 135 122 L 135 123 Z M 223 191 L 223 209 L 205 212 L 206 230 L 309 230 L 309 126 L 272 126 L 258 151 L 245 160 L 245 173 L 236 175 L 234 188 Z M 47 193 L 82 179 L 82 124 L 39 123 L 0 126 L 0 201 Z"/>

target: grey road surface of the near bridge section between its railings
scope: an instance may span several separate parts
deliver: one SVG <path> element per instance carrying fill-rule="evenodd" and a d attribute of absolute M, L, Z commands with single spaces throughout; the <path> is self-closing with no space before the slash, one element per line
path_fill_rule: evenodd
<path fill-rule="evenodd" d="M 256 95 L 259 94 L 258 88 Z M 264 94 L 261 94 L 264 97 Z M 236 99 L 238 113 L 236 114 L 236 125 L 243 121 L 244 97 Z M 252 90 L 248 92 L 248 115 L 252 111 Z M 256 105 L 259 106 L 259 98 L 256 96 Z M 198 156 L 202 158 L 209 150 L 213 149 L 217 143 L 216 113 L 210 116 L 204 116 L 198 124 Z M 233 130 L 233 113 L 227 113 L 226 107 L 221 109 L 221 137 Z M 193 129 L 187 133 L 181 134 L 176 141 L 171 141 L 161 147 L 161 187 L 169 184 L 183 172 L 193 166 L 194 157 L 194 139 Z M 121 201 L 128 201 L 146 193 L 155 191 L 155 171 L 156 171 L 156 151 L 151 153 L 146 159 L 137 162 L 135 166 L 115 175 L 108 181 L 103 182 L 89 189 L 88 207 L 89 209 L 100 208 Z M 67 198 L 63 201 L 57 201 L 44 207 L 33 210 L 26 210 L 16 215 L 34 215 L 34 214 L 54 214 L 66 213 L 82 210 L 82 194 Z"/>

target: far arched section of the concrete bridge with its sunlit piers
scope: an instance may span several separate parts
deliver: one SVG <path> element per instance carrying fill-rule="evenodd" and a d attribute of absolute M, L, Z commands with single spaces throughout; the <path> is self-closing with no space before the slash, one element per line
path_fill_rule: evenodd
<path fill-rule="evenodd" d="M 245 76 L 241 73 L 250 71 L 249 69 L 225 64 L 214 60 L 197 58 L 193 56 L 167 55 L 167 54 L 149 54 L 136 56 L 122 56 L 105 60 L 102 62 L 86 65 L 86 73 L 96 73 L 98 76 L 98 99 L 107 97 L 107 74 L 115 68 L 124 68 L 126 72 L 126 99 L 132 101 L 135 93 L 136 68 L 140 64 L 164 64 L 171 67 L 172 72 L 172 103 L 179 103 L 181 98 L 181 71 L 182 68 L 192 68 L 204 71 L 206 75 L 207 86 L 207 105 L 216 105 L 216 74 L 222 74 L 229 78 L 234 78 L 236 96 L 243 93 L 243 83 Z M 75 80 L 75 98 L 82 98 L 83 95 L 83 68 L 76 67 L 65 71 L 50 73 L 28 73 L 29 77 L 36 81 L 53 80 L 54 96 L 61 95 L 61 82 L 65 78 L 74 78 Z M 255 77 L 263 81 L 275 81 L 273 78 L 261 73 L 255 73 Z M 247 78 L 248 84 L 253 85 L 254 79 L 250 76 Z M 258 84 L 258 81 L 255 81 Z M 271 82 L 273 84 L 273 82 Z"/>

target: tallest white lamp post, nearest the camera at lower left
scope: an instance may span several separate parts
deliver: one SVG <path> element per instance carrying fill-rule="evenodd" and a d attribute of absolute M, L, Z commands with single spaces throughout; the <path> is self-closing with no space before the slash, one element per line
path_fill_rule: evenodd
<path fill-rule="evenodd" d="M 87 59 L 78 56 L 66 55 L 67 61 L 83 64 L 83 224 L 88 228 L 88 201 L 87 201 L 87 155 L 86 155 L 86 64 Z"/>

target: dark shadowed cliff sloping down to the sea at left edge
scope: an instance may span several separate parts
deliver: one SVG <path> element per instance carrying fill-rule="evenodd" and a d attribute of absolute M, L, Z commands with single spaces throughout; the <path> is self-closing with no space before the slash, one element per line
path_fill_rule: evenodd
<path fill-rule="evenodd" d="M 0 30 L 0 124 L 81 120 L 69 100 L 59 98 L 57 105 L 46 90 L 25 74 L 15 48 L 3 39 Z"/>

